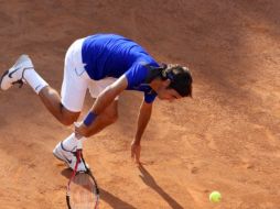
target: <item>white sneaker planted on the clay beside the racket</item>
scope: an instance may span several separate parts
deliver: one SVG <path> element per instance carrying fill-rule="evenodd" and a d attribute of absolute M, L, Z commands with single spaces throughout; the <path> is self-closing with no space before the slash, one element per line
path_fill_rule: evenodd
<path fill-rule="evenodd" d="M 53 155 L 57 160 L 65 162 L 72 169 L 75 168 L 77 162 L 76 152 L 65 150 L 65 147 L 63 146 L 63 142 L 60 142 L 55 146 L 55 148 L 53 150 Z M 86 166 L 88 167 L 88 165 Z M 77 172 L 86 172 L 87 170 L 86 166 L 83 163 L 83 161 L 80 161 L 77 167 Z"/>

